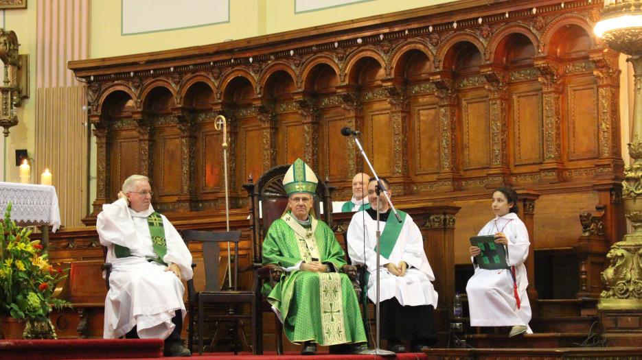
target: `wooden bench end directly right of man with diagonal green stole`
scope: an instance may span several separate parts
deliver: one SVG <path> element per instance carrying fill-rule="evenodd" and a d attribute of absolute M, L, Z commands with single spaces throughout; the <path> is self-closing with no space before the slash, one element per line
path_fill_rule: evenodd
<path fill-rule="evenodd" d="M 434 284 L 439 293 L 439 308 L 446 310 L 442 316 L 447 319 L 452 317 L 452 301 L 455 298 L 455 215 L 459 206 L 423 209 L 424 217 L 411 215 L 424 235 L 428 263 L 433 268 L 435 278 L 439 279 Z"/>

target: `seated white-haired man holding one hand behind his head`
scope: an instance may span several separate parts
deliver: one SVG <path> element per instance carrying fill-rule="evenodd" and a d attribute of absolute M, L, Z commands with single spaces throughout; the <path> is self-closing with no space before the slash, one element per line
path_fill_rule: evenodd
<path fill-rule="evenodd" d="M 189 356 L 181 342 L 181 278 L 193 276 L 192 254 L 170 221 L 154 211 L 146 176 L 127 178 L 119 197 L 103 205 L 96 222 L 112 264 L 104 337 L 165 339 L 165 356 Z"/>

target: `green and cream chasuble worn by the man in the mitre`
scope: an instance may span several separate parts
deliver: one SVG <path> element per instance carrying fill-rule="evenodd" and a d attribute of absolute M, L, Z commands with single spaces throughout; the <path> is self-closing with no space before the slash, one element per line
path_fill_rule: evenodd
<path fill-rule="evenodd" d="M 341 269 L 345 256 L 334 232 L 323 221 L 310 217 L 312 224 L 307 228 L 290 213 L 274 221 L 263 241 L 263 263 L 292 267 L 299 261 L 318 259 Z M 345 274 L 284 273 L 270 291 L 268 302 L 281 312 L 284 333 L 295 343 L 312 341 L 328 346 L 366 341 L 356 293 Z"/>

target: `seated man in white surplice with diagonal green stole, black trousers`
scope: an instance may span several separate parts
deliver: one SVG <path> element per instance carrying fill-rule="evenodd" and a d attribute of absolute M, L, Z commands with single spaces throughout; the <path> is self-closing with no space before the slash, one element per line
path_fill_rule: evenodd
<path fill-rule="evenodd" d="M 388 189 L 389 183 L 380 178 Z M 347 230 L 347 248 L 352 263 L 365 264 L 369 274 L 367 294 L 376 302 L 376 210 L 380 213 L 380 316 L 381 337 L 394 352 L 404 352 L 402 340 L 413 342 L 413 350 L 424 351 L 437 340 L 433 310 L 437 291 L 433 269 L 424 252 L 422 234 L 412 217 L 398 211 L 402 223 L 391 213 L 385 195 L 378 205 L 377 182 L 369 179 L 371 208 L 354 214 Z"/>

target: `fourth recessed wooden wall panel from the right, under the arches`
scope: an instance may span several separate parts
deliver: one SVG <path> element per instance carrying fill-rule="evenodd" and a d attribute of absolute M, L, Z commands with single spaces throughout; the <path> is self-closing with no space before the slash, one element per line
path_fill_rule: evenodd
<path fill-rule="evenodd" d="M 436 105 L 415 108 L 415 174 L 439 172 L 439 109 Z"/>

